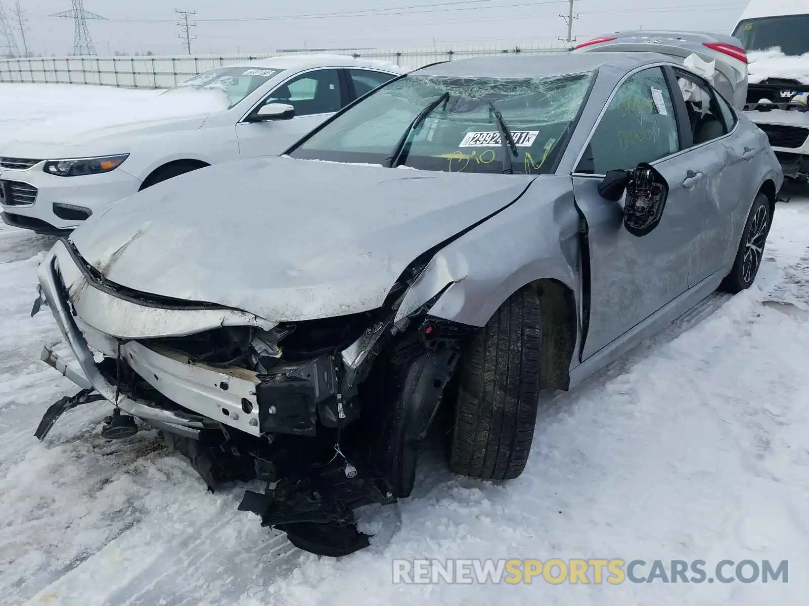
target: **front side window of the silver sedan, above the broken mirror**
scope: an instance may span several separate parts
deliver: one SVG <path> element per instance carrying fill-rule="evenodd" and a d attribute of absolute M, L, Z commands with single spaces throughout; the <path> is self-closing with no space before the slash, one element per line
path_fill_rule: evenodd
<path fill-rule="evenodd" d="M 577 172 L 606 175 L 680 151 L 675 107 L 663 69 L 645 69 L 616 91 Z"/>

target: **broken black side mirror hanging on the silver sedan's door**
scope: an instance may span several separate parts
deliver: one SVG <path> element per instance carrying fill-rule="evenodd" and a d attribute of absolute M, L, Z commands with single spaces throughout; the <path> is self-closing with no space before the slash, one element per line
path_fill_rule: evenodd
<path fill-rule="evenodd" d="M 624 227 L 629 234 L 641 237 L 657 227 L 667 197 L 666 179 L 650 164 L 639 164 L 629 173 L 624 204 Z"/>

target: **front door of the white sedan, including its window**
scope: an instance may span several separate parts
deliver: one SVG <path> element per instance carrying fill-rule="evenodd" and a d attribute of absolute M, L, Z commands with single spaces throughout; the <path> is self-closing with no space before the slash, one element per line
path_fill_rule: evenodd
<path fill-rule="evenodd" d="M 267 103 L 286 103 L 295 108 L 291 120 L 266 120 L 236 124 L 239 156 L 255 158 L 282 154 L 295 141 L 316 128 L 345 104 L 345 87 L 338 69 L 312 69 L 282 82 L 248 116 Z"/>

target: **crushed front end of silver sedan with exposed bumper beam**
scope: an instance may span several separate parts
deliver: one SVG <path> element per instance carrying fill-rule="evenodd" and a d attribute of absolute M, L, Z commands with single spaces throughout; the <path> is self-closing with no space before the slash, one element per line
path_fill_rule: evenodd
<path fill-rule="evenodd" d="M 114 405 L 102 435 L 159 429 L 210 490 L 260 480 L 239 506 L 312 553 L 368 544 L 354 509 L 393 503 L 413 486 L 417 451 L 472 337 L 429 316 L 432 301 L 396 320 L 424 263 L 414 263 L 379 309 L 305 322 L 269 322 L 238 309 L 170 300 L 112 284 L 68 240 L 40 264 L 52 310 L 81 373 L 43 359 L 82 390 L 66 410 Z"/>

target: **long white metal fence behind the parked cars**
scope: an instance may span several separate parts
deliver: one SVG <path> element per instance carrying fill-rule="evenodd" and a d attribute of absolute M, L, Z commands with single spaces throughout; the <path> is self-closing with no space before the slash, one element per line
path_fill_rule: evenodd
<path fill-rule="evenodd" d="M 563 45 L 512 45 L 464 47 L 438 50 L 411 48 L 403 51 L 339 51 L 354 57 L 392 61 L 396 65 L 417 68 L 435 61 L 447 61 L 501 55 L 506 53 L 551 53 L 567 50 Z M 311 51 L 241 53 L 176 57 L 32 57 L 0 59 L 0 82 L 60 82 L 65 84 L 103 84 L 128 88 L 168 88 L 179 82 L 222 65 L 255 61 L 278 55 L 305 54 Z"/>

